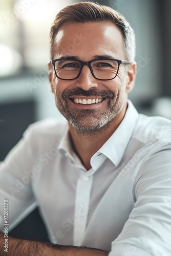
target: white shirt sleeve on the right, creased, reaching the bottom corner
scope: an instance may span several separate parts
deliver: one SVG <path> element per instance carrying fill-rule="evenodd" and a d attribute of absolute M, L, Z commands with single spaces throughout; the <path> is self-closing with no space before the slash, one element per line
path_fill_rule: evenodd
<path fill-rule="evenodd" d="M 134 186 L 135 206 L 109 256 L 171 255 L 171 145 L 144 159 Z"/>

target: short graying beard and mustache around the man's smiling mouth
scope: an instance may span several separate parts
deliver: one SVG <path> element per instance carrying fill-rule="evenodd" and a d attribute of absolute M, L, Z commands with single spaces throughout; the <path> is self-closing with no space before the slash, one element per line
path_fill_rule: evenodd
<path fill-rule="evenodd" d="M 56 96 L 56 106 L 59 112 L 67 119 L 70 125 L 79 131 L 96 131 L 114 119 L 123 109 L 125 98 L 123 92 L 118 93 L 117 98 L 111 91 L 83 91 L 82 89 L 65 90 L 61 96 Z M 88 93 L 89 92 L 89 93 Z M 108 100 L 105 111 L 102 109 L 77 109 L 72 110 L 68 104 L 68 96 L 101 96 Z M 85 95 L 86 94 L 86 95 Z M 113 102 L 114 101 L 114 102 Z"/>

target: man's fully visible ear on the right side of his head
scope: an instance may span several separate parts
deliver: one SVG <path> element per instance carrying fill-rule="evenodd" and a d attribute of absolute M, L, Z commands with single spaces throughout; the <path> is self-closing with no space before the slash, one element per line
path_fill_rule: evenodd
<path fill-rule="evenodd" d="M 135 78 L 137 74 L 137 63 L 135 61 L 129 65 L 129 68 L 126 73 L 126 93 L 129 93 L 132 91 L 134 87 Z"/>

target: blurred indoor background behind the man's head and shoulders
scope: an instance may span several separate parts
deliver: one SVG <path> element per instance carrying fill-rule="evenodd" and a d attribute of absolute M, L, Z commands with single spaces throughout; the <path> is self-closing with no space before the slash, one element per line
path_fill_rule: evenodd
<path fill-rule="evenodd" d="M 62 118 L 48 82 L 49 31 L 56 13 L 76 2 L 84 1 L 0 2 L 0 160 L 30 123 Z M 171 119 L 171 1 L 96 2 L 121 12 L 135 30 L 137 79 L 129 98 L 140 113 Z"/>

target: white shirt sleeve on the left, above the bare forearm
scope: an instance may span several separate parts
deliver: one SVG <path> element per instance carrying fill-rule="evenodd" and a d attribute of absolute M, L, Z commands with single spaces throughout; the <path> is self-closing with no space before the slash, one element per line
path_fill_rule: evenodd
<path fill-rule="evenodd" d="M 4 231 L 5 224 L 4 200 L 8 204 L 9 232 L 36 207 L 31 185 L 36 146 L 31 131 L 26 130 L 0 163 L 0 231 Z"/>

